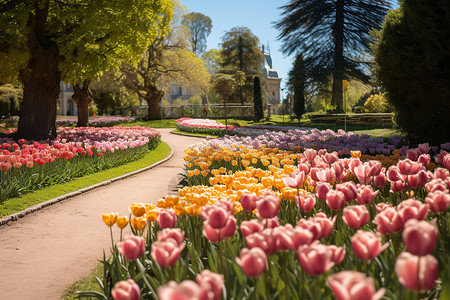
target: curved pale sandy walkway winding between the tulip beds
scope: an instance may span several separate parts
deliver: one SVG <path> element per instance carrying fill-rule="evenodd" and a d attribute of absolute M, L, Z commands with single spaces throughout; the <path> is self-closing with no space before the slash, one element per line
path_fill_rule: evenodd
<path fill-rule="evenodd" d="M 131 203 L 167 194 L 169 182 L 183 170 L 183 150 L 199 139 L 158 130 L 174 151 L 168 161 L 0 227 L 0 299 L 60 299 L 66 288 L 91 272 L 103 251 L 110 253 L 102 213 L 128 216 Z M 119 230 L 113 229 L 117 239 Z"/>

